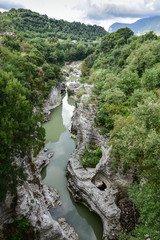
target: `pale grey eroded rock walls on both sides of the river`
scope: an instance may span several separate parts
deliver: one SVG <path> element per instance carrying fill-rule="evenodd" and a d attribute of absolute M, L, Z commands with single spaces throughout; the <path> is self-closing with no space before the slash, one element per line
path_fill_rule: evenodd
<path fill-rule="evenodd" d="M 123 228 L 122 222 L 126 225 L 130 215 L 133 215 L 134 206 L 130 203 L 130 210 L 129 204 L 126 207 L 128 198 L 122 191 L 131 181 L 131 177 L 115 173 L 110 167 L 110 148 L 107 147 L 107 139 L 99 134 L 99 129 L 94 123 L 97 106 L 89 103 L 93 85 L 77 82 L 80 76 L 79 66 L 80 62 L 67 64 L 64 68 L 66 81 L 69 74 L 73 77 L 73 82 L 67 84 L 68 92 L 74 99 L 77 99 L 79 92 L 82 93 L 79 103 L 76 104 L 70 127 L 71 136 L 77 140 L 77 147 L 67 164 L 68 189 L 75 201 L 83 203 L 90 211 L 100 216 L 103 224 L 103 239 L 116 240 Z M 72 68 L 71 71 L 70 68 Z M 51 109 L 61 104 L 61 96 L 65 88 L 64 84 L 58 84 L 52 88 L 43 108 L 45 121 L 49 120 Z M 101 147 L 102 157 L 96 168 L 84 168 L 81 164 L 81 155 L 85 147 L 90 144 Z M 49 158 L 44 156 L 44 151 L 45 149 L 36 158 L 26 157 L 23 160 L 15 160 L 17 165 L 23 164 L 27 179 L 22 186 L 18 187 L 16 197 L 8 193 L 6 201 L 0 206 L 0 239 L 7 235 L 8 229 L 15 220 L 23 218 L 30 222 L 26 239 L 78 239 L 74 228 L 64 218 L 56 221 L 50 214 L 49 207 L 56 208 L 60 204 L 60 196 L 56 189 L 42 183 L 41 170 L 49 163 Z M 101 189 L 102 185 L 103 189 Z M 124 216 L 128 217 L 125 219 Z M 132 219 L 133 217 L 131 222 Z"/>

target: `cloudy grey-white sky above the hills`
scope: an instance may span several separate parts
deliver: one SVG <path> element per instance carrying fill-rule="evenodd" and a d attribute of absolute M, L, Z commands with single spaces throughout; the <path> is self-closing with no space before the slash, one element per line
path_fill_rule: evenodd
<path fill-rule="evenodd" d="M 97 24 L 135 22 L 160 15 L 160 0 L 0 0 L 0 10 L 26 8 L 51 18 Z"/>

